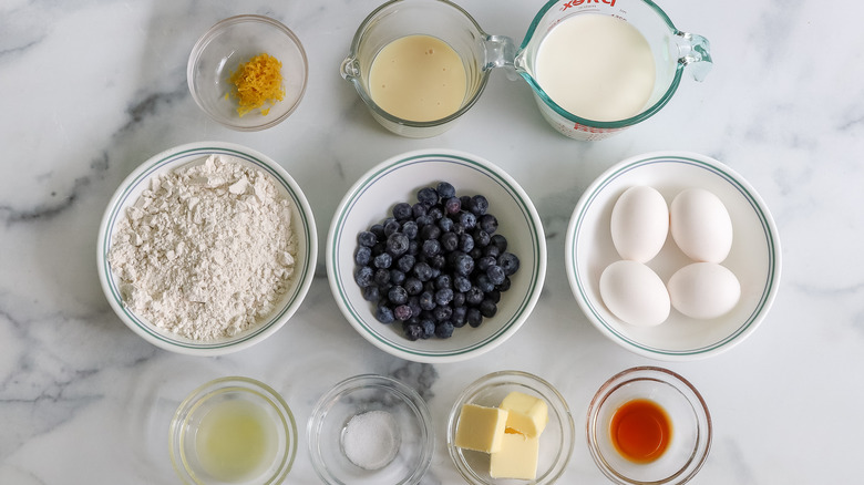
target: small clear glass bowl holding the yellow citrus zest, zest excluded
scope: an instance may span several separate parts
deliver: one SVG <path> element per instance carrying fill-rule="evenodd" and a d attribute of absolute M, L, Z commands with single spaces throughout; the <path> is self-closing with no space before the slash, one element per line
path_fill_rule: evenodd
<path fill-rule="evenodd" d="M 266 115 L 254 110 L 240 116 L 229 78 L 241 62 L 264 52 L 282 63 L 285 96 Z M 195 103 L 213 120 L 244 132 L 275 126 L 294 113 L 306 92 L 308 74 L 306 51 L 297 35 L 264 16 L 236 16 L 216 23 L 195 43 L 186 66 Z"/>

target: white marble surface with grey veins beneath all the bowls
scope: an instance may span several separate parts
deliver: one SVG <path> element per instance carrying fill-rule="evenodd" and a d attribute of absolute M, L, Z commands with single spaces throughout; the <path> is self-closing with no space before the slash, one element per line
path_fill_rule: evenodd
<path fill-rule="evenodd" d="M 464 0 L 485 30 L 521 39 L 542 0 Z M 241 374 L 278 389 L 301 430 L 318 396 L 363 372 L 421 390 L 439 442 L 426 484 L 456 484 L 443 445 L 459 391 L 495 370 L 556 384 L 578 437 L 560 483 L 605 483 L 583 437 L 590 396 L 639 358 L 599 334 L 566 282 L 564 231 L 587 184 L 642 152 L 686 149 L 742 174 L 779 226 L 783 276 L 762 327 L 722 355 L 661 365 L 703 393 L 711 455 L 693 483 L 861 481 L 864 401 L 864 4 L 660 1 L 707 37 L 714 70 L 685 79 L 644 125 L 603 142 L 549 128 L 528 87 L 494 72 L 446 134 L 383 131 L 338 74 L 376 0 L 4 0 L 0 4 L 0 483 L 175 483 L 167 415 L 188 391 Z M 298 111 L 259 133 L 224 128 L 195 106 L 186 59 L 197 37 L 236 13 L 272 16 L 304 41 L 309 89 Z M 549 270 L 523 329 L 470 362 L 420 365 L 362 340 L 339 313 L 323 259 L 295 318 L 224 358 L 157 350 L 109 308 L 95 271 L 99 220 L 117 184 L 155 153 L 222 140 L 280 161 L 305 188 L 320 244 L 343 192 L 391 155 L 421 147 L 475 153 L 508 171 L 545 224 Z M 322 252 L 321 252 L 322 257 Z M 315 372 L 309 372 L 315 369 Z M 289 483 L 317 483 L 300 448 Z"/>

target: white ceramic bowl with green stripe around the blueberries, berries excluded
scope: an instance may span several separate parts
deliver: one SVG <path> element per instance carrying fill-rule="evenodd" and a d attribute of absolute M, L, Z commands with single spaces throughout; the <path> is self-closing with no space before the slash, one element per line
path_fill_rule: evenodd
<path fill-rule="evenodd" d="M 507 251 L 521 267 L 497 313 L 477 328 L 455 329 L 449 339 L 410 341 L 399 322 L 376 320 L 353 278 L 357 236 L 390 215 L 397 203 L 416 202 L 416 190 L 449 182 L 456 195 L 483 194 L 498 219 Z M 385 352 L 416 362 L 455 362 L 480 355 L 511 338 L 528 318 L 546 276 L 546 240 L 537 210 L 525 190 L 504 171 L 477 156 L 430 149 L 394 156 L 360 177 L 333 216 L 327 239 L 327 276 L 339 309 L 363 338 Z"/>

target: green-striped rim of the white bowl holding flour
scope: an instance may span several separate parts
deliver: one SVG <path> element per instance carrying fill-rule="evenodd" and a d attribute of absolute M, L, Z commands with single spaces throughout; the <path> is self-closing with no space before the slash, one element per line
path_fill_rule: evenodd
<path fill-rule="evenodd" d="M 288 193 L 291 199 L 291 203 L 298 209 L 297 213 L 299 213 L 300 215 L 304 227 L 309 227 L 309 220 L 307 218 L 306 213 L 301 209 L 302 205 L 300 204 L 300 199 L 298 198 L 297 194 L 294 192 L 294 188 L 291 187 L 289 182 L 286 180 L 280 173 L 271 168 L 267 162 L 264 162 L 260 158 L 250 155 L 246 152 L 243 152 L 240 149 L 218 147 L 218 146 L 204 146 L 204 147 L 183 149 L 179 152 L 171 152 L 165 154 L 163 157 L 156 159 L 155 162 L 153 162 L 151 166 L 143 169 L 133 180 L 131 180 L 131 183 L 124 184 L 123 192 L 116 198 L 114 205 L 111 207 L 111 217 L 109 218 L 109 224 L 105 228 L 104 237 L 102 241 L 100 241 L 100 246 L 102 248 L 100 257 L 103 258 L 104 261 L 103 271 L 104 271 L 105 280 L 109 283 L 111 296 L 117 303 L 117 308 L 120 308 L 121 311 L 132 322 L 134 322 L 138 329 L 144 331 L 147 336 L 154 338 L 155 340 L 166 342 L 178 348 L 195 349 L 195 350 L 210 350 L 210 349 L 223 349 L 227 347 L 233 347 L 236 345 L 237 343 L 246 342 L 259 336 L 261 332 L 266 331 L 275 322 L 281 319 L 285 316 L 285 313 L 290 310 L 298 295 L 302 292 L 302 285 L 297 285 L 294 293 L 289 297 L 287 305 L 285 305 L 285 308 L 282 308 L 279 312 L 274 313 L 266 322 L 259 324 L 258 328 L 255 329 L 255 331 L 244 334 L 241 338 L 238 339 L 219 341 L 219 342 L 192 342 L 192 341 L 173 339 L 168 336 L 157 332 L 154 326 L 143 321 L 141 318 L 138 318 L 135 313 L 133 313 L 126 308 L 126 306 L 123 302 L 123 298 L 120 295 L 120 290 L 117 289 L 114 275 L 111 271 L 111 265 L 107 261 L 107 254 L 109 250 L 111 249 L 111 239 L 114 234 L 114 225 L 117 223 L 120 217 L 122 217 L 121 213 L 122 213 L 122 208 L 124 207 L 124 204 L 126 203 L 128 197 L 131 197 L 131 193 L 133 192 L 134 188 L 138 187 L 140 184 L 142 183 L 146 183 L 151 178 L 151 176 L 153 176 L 154 173 L 160 171 L 165 165 L 172 164 L 183 158 L 189 158 L 189 162 L 193 162 L 195 159 L 208 155 L 235 156 L 265 171 L 267 174 L 269 174 L 276 180 L 278 180 L 278 183 L 281 184 L 282 187 L 285 187 L 286 192 Z M 132 204 L 134 204 L 134 200 L 132 202 Z M 311 244 L 310 231 L 302 231 L 302 237 L 306 239 L 306 254 L 304 255 L 305 257 L 304 257 L 302 270 L 295 276 L 295 278 L 299 278 L 300 280 L 306 279 L 306 275 L 313 267 L 312 261 L 310 260 L 311 251 L 313 249 Z"/>

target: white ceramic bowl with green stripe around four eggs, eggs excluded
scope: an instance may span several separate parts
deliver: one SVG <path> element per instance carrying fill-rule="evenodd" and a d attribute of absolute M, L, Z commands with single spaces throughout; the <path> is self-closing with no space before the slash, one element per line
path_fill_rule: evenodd
<path fill-rule="evenodd" d="M 722 265 L 741 283 L 741 299 L 730 312 L 712 320 L 696 320 L 672 309 L 668 320 L 657 327 L 635 327 L 616 318 L 603 303 L 600 274 L 620 259 L 611 241 L 611 209 L 621 193 L 635 185 L 656 188 L 667 204 L 679 192 L 695 187 L 710 190 L 723 202 L 732 219 L 733 241 Z M 740 343 L 765 318 L 780 283 L 780 239 L 764 202 L 734 171 L 693 153 L 638 155 L 600 175 L 573 211 L 565 258 L 570 288 L 588 320 L 625 349 L 659 360 L 707 358 Z M 648 266 L 667 282 L 689 262 L 668 236 L 666 246 Z"/>

